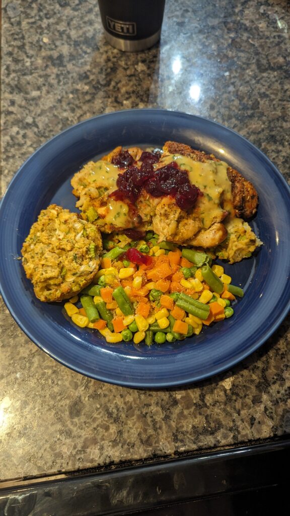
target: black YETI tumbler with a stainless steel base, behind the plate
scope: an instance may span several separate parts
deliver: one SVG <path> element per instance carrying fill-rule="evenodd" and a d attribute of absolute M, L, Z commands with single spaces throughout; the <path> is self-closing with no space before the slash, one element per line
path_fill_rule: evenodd
<path fill-rule="evenodd" d="M 105 38 L 118 50 L 139 52 L 160 39 L 165 0 L 98 0 Z"/>

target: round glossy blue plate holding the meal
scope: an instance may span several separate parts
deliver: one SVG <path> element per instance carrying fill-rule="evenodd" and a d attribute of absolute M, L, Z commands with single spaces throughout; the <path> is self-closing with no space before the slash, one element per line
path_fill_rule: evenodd
<path fill-rule="evenodd" d="M 252 227 L 264 245 L 256 257 L 225 265 L 245 296 L 234 316 L 180 344 L 106 344 L 80 329 L 60 304 L 34 296 L 19 260 L 41 209 L 51 203 L 75 209 L 70 179 L 88 160 L 117 145 L 162 146 L 180 141 L 214 153 L 255 185 L 260 206 Z M 269 159 L 228 128 L 201 117 L 158 109 L 133 109 L 80 122 L 38 149 L 11 181 L 0 207 L 2 294 L 28 337 L 63 365 L 119 385 L 163 388 L 210 377 L 237 364 L 278 328 L 289 309 L 290 195 Z"/>

